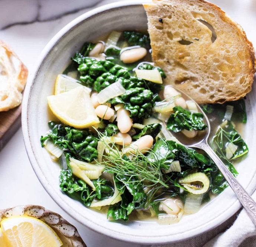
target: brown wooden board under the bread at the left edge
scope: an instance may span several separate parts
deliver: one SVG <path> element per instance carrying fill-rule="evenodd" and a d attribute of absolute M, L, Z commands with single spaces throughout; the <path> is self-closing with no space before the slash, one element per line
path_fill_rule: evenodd
<path fill-rule="evenodd" d="M 21 126 L 22 105 L 0 112 L 0 151 Z"/>

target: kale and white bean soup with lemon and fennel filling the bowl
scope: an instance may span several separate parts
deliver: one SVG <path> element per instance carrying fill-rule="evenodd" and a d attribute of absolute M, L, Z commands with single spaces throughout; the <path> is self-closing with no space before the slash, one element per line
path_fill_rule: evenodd
<path fill-rule="evenodd" d="M 183 146 L 202 138 L 207 125 L 193 101 L 164 84 L 147 33 L 112 31 L 71 59 L 48 97 L 60 121 L 50 121 L 41 137 L 60 163 L 63 193 L 112 220 L 173 224 L 228 186 L 206 154 Z M 248 152 L 239 134 L 244 99 L 201 108 L 211 147 L 237 176 L 232 163 Z"/>

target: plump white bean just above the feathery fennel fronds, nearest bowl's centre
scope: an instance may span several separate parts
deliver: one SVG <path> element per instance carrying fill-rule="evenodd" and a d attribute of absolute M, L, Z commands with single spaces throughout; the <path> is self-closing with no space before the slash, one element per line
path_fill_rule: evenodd
<path fill-rule="evenodd" d="M 131 152 L 131 153 L 136 153 L 136 151 L 141 151 L 142 154 L 146 153 L 149 151 L 149 148 L 152 147 L 153 145 L 153 137 L 150 135 L 147 136 L 142 136 L 140 139 L 137 141 L 134 141 L 129 147 L 126 147 L 124 149 L 124 153 Z"/>

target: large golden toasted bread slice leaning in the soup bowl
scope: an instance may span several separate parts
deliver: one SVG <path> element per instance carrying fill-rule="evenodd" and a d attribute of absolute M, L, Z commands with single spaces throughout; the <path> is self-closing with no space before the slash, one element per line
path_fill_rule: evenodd
<path fill-rule="evenodd" d="M 255 50 L 242 27 L 204 0 L 144 4 L 152 58 L 197 103 L 237 100 L 252 89 Z"/>

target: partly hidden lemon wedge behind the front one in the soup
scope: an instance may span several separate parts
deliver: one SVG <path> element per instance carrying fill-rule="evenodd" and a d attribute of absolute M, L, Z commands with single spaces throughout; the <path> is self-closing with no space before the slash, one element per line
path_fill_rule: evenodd
<path fill-rule="evenodd" d="M 85 87 L 79 84 L 78 80 L 64 74 L 59 74 L 55 82 L 55 95 L 68 92 L 72 89 L 75 89 L 76 87 L 83 87 L 88 92 L 88 94 L 90 94 L 92 91 L 89 87 Z"/>

